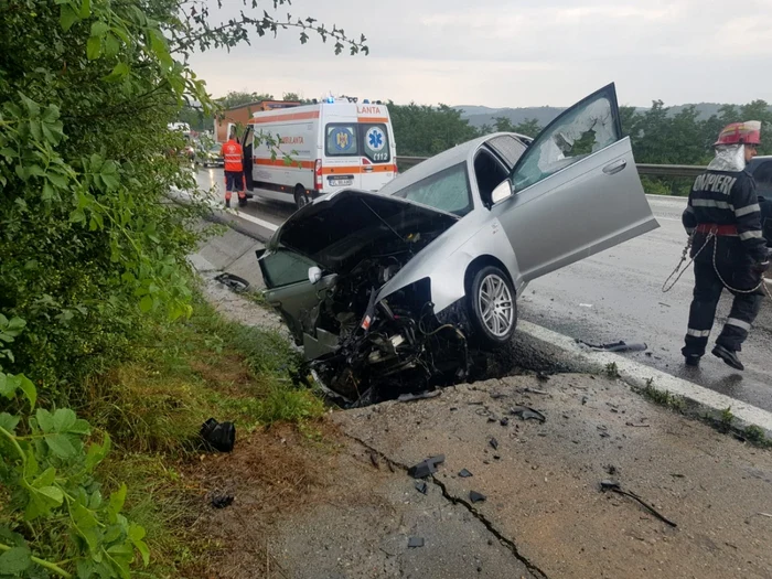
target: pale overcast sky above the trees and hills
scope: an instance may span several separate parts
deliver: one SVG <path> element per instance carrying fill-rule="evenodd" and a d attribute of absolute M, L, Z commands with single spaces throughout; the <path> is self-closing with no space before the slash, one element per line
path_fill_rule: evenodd
<path fill-rule="evenodd" d="M 243 8 L 206 1 L 217 21 Z M 364 34 L 369 56 L 288 30 L 196 55 L 214 96 L 566 106 L 613 81 L 624 105 L 772 101 L 772 0 L 293 0 L 276 13 L 288 11 Z"/>

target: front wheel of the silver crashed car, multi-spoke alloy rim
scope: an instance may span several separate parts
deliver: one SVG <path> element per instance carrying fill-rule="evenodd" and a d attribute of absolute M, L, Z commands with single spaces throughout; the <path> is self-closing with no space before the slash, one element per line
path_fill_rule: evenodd
<path fill-rule="evenodd" d="M 517 325 L 517 302 L 510 276 L 495 266 L 485 266 L 472 278 L 467 296 L 475 341 L 493 349 L 507 344 Z"/>

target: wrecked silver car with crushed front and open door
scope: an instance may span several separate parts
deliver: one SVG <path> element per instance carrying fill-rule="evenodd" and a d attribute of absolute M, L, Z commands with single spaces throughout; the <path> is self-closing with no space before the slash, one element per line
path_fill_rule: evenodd
<path fill-rule="evenodd" d="M 533 140 L 489 135 L 314 200 L 258 261 L 320 380 L 364 404 L 467 378 L 530 280 L 656 227 L 612 84 Z"/>

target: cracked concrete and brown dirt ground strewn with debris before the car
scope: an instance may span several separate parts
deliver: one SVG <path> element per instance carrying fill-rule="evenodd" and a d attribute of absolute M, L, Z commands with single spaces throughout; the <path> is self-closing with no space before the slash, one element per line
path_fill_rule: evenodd
<path fill-rule="evenodd" d="M 437 454 L 423 494 L 407 469 Z M 772 454 L 605 377 L 513 376 L 239 432 L 191 475 L 208 490 L 208 577 L 772 578 Z"/>

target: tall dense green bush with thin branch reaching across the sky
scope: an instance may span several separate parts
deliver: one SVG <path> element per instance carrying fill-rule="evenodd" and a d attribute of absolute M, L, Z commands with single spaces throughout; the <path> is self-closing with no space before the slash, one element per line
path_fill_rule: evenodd
<path fill-rule="evenodd" d="M 0 311 L 26 322 L 9 367 L 42 396 L 63 399 L 120 360 L 148 312 L 190 314 L 184 256 L 199 212 L 165 195 L 195 181 L 168 126 L 186 103 L 205 116 L 217 107 L 191 51 L 296 29 L 303 42 L 317 31 L 336 52 L 367 52 L 364 36 L 313 19 L 245 9 L 212 23 L 211 11 L 197 0 L 0 0 Z"/>

